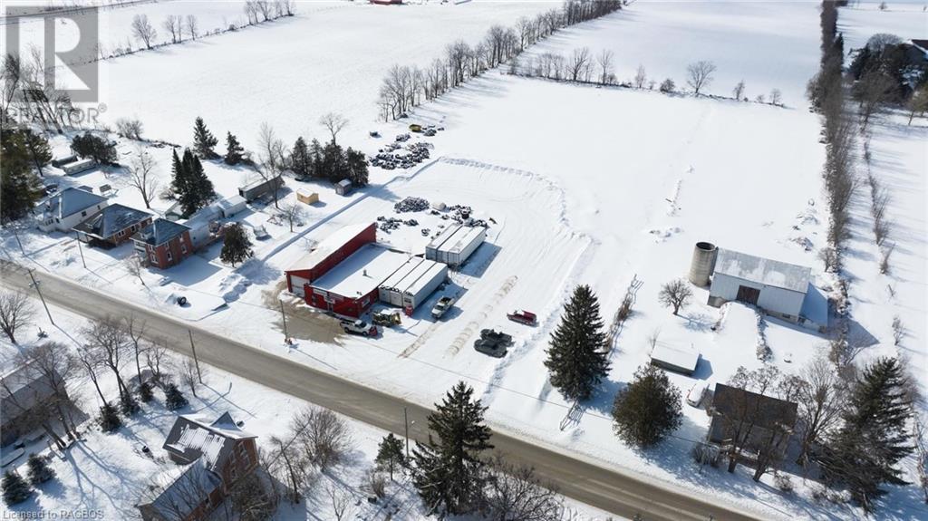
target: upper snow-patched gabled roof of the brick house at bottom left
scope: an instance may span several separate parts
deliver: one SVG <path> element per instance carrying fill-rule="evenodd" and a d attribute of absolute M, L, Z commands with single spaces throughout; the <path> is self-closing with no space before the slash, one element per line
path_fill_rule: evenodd
<path fill-rule="evenodd" d="M 211 470 L 225 461 L 235 441 L 256 438 L 239 428 L 229 413 L 223 413 L 213 422 L 194 414 L 179 416 L 164 440 L 164 450 L 192 462 L 205 459 Z"/>

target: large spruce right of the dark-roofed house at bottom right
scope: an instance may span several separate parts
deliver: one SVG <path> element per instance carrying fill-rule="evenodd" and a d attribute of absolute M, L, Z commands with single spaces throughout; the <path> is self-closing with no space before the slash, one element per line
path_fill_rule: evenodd
<path fill-rule="evenodd" d="M 851 390 L 844 426 L 826 443 L 819 464 L 825 478 L 843 483 L 867 512 L 886 490 L 904 485 L 896 464 L 914 447 L 906 430 L 911 415 L 909 385 L 895 358 L 870 363 Z"/>

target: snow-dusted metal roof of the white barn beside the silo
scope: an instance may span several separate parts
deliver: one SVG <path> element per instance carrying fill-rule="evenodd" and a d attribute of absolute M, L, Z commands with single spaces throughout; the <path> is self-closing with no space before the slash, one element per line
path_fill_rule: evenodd
<path fill-rule="evenodd" d="M 731 249 L 718 249 L 715 274 L 806 293 L 812 269 L 789 262 L 772 261 Z"/>

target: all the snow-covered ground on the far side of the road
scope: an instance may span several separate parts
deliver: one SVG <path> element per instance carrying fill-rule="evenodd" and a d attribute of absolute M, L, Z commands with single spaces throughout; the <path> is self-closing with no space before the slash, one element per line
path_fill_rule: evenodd
<path fill-rule="evenodd" d="M 136 115 L 148 137 L 186 144 L 191 123 L 200 115 L 213 133 L 230 130 L 251 147 L 262 121 L 273 124 L 289 143 L 298 133 L 320 135 L 316 119 L 334 109 L 353 122 L 340 134 L 340 143 L 371 153 L 384 140 L 368 137 L 367 130 L 379 128 L 390 136 L 403 132 L 409 122 L 374 123 L 383 70 L 394 62 L 427 63 L 455 38 L 474 41 L 493 22 L 511 24 L 522 14 L 550 6 L 345 6 L 222 35 L 209 43 L 110 60 L 104 68 L 110 108 L 106 117 Z M 693 378 L 671 376 L 684 393 L 697 381 L 724 382 L 740 365 L 760 365 L 754 354 L 754 311 L 737 304 L 725 312 L 708 307 L 701 289 L 679 317 L 658 305 L 660 286 L 687 273 L 695 242 L 810 266 L 822 291 L 830 290 L 817 258 L 827 226 L 820 183 L 824 149 L 818 143 L 818 117 L 808 112 L 803 96 L 818 64 L 816 7 L 811 2 L 638 2 L 624 12 L 564 30 L 531 51 L 567 54 L 588 46 L 595 55 L 612 48 L 621 81 L 643 64 L 649 76 L 673 77 L 677 84 L 683 83 L 688 63 L 712 60 L 718 71 L 711 94 L 729 95 L 743 79 L 751 97 L 780 89 L 787 108 L 558 84 L 491 71 L 412 114 L 410 121 L 446 128 L 428 139 L 435 146 L 432 163 L 399 173 L 372 169 L 373 184 L 351 197 L 312 185 L 323 204 L 307 209 L 304 225 L 292 234 L 274 221 L 273 205 L 242 214 L 248 226 L 266 226 L 271 238 L 256 242 L 255 259 L 238 270 L 223 265 L 213 247 L 169 270 L 170 284 L 157 284 L 165 273 L 148 273 L 148 287 L 142 288 L 120 261 L 131 247 L 85 250 L 88 270 L 73 241 L 61 235 L 24 234 L 25 259 L 6 235 L 3 252 L 164 311 L 177 312 L 169 298 L 185 293 L 193 302 L 185 318 L 203 327 L 223 331 L 234 325 L 254 345 L 410 400 L 431 403 L 455 381 L 466 379 L 483 392 L 490 405 L 488 419 L 496 428 L 740 503 L 765 518 L 854 518 L 857 510 L 814 502 L 811 481 L 797 483 L 796 495 L 788 498 L 772 486 L 769 475 L 754 484 L 743 467 L 735 475 L 714 469 L 697 474 L 688 452 L 709 423 L 700 409 L 684 405 L 684 425 L 658 450 L 648 452 L 632 450 L 615 438 L 609 418 L 614 393 L 648 361 L 648 337 L 655 331 L 665 341 L 692 344 L 702 352 Z M 872 32 L 926 37 L 924 15 L 914 6 L 905 16 L 864 7 L 841 10 L 847 49 L 866 42 Z M 241 63 L 249 69 L 241 70 Z M 152 81 L 152 70 L 171 70 L 189 83 Z M 895 352 L 889 324 L 899 314 L 909 328 L 902 348 L 923 377 L 928 374 L 922 348 L 928 312 L 928 215 L 923 204 L 928 135 L 924 122 L 918 124 L 907 127 L 899 117 L 887 117 L 871 127 L 874 168 L 894 192 L 893 271 L 888 277 L 878 273 L 878 255 L 867 235 L 866 194 L 858 197 L 847 270 L 854 276 L 853 317 L 877 341 L 867 356 Z M 64 142 L 58 140 L 57 146 Z M 127 144 L 121 148 L 132 152 Z M 166 182 L 170 151 L 151 151 Z M 247 175 L 213 163 L 206 169 L 224 196 L 235 193 Z M 140 204 L 124 172 L 62 181 L 103 182 L 120 188 L 120 202 Z M 300 185 L 288 181 L 291 190 Z M 328 319 L 289 299 L 295 329 L 291 335 L 299 345 L 282 345 L 275 302 L 281 270 L 341 225 L 392 216 L 393 203 L 407 196 L 470 205 L 475 217 L 495 221 L 487 244 L 444 290 L 458 294 L 455 310 L 436 324 L 428 317 L 430 301 L 401 327 L 367 340 L 325 333 L 331 330 Z M 159 201 L 154 208 L 166 206 Z M 401 217 L 414 217 L 419 225 L 380 234 L 379 240 L 404 251 L 417 252 L 427 242 L 419 229 L 434 233 L 442 223 L 426 213 Z M 574 285 L 588 284 L 608 319 L 633 277 L 644 286 L 617 339 L 608 381 L 578 419 L 565 421 L 571 403 L 550 388 L 542 364 L 561 303 Z M 894 298 L 887 286 L 895 290 Z M 214 312 L 223 301 L 229 302 L 227 308 Z M 505 312 L 520 307 L 538 312 L 540 324 L 529 328 L 508 323 Z M 504 360 L 470 349 L 483 327 L 501 327 L 515 337 Z M 774 319 L 767 321 L 765 334 L 774 363 L 784 372 L 793 373 L 827 351 L 826 337 Z M 880 514 L 919 517 L 922 507 L 911 488 L 891 489 L 886 502 L 892 507 Z"/>

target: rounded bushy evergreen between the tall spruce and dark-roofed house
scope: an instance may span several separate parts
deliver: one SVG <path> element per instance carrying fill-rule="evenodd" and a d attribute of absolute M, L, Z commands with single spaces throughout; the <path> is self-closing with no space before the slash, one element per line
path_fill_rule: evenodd
<path fill-rule="evenodd" d="M 615 433 L 626 443 L 651 447 L 683 421 L 680 389 L 653 365 L 638 367 L 635 378 L 612 403 Z"/>

